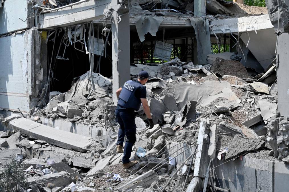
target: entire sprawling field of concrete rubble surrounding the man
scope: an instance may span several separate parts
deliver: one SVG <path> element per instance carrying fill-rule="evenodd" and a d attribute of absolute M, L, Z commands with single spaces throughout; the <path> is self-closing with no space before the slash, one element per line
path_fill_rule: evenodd
<path fill-rule="evenodd" d="M 237 76 L 230 75 L 235 69 Z M 73 187 L 77 191 L 86 187 L 91 191 L 199 191 L 208 182 L 212 161 L 262 150 L 268 157 L 289 162 L 288 118 L 278 116 L 277 84 L 264 83 L 269 76 L 253 78 L 240 62 L 222 58 L 204 66 L 178 58 L 162 66 L 132 65 L 131 78 L 141 70 L 151 76 L 146 88 L 155 126 L 147 129 L 143 109 L 136 112 L 137 140 L 131 159 L 138 164 L 123 170 L 123 154 L 116 153 L 117 124 L 106 127 L 113 129 L 107 143 L 41 124 L 39 116 L 85 125 L 115 122 L 111 80 L 92 74 L 92 91 L 88 71 L 68 92 L 51 93 L 50 102 L 35 112 L 34 121 L 18 115 L 3 119 L 14 132 L 1 133 L 0 166 L 9 162 L 9 155 L 21 154 L 27 168 L 32 166 L 26 174 L 32 189 L 39 181 L 48 191 L 53 191 L 51 186 L 64 191 Z M 65 138 L 61 142 L 59 135 Z M 56 184 L 47 189 L 50 177 Z"/>

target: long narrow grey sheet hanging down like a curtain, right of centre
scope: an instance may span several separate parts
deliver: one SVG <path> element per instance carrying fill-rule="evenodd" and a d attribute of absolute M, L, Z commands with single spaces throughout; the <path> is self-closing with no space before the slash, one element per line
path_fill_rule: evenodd
<path fill-rule="evenodd" d="M 206 64 L 207 55 L 211 54 L 209 21 L 195 17 L 190 17 L 189 19 L 196 34 L 198 61 L 200 64 Z"/>

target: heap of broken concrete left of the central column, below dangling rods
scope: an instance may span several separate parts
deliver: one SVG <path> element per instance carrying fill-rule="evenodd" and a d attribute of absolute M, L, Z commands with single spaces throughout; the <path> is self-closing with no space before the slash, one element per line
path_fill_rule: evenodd
<path fill-rule="evenodd" d="M 50 92 L 47 106 L 31 114 L 34 120 L 41 123 L 42 118 L 50 118 L 95 125 L 107 118 L 113 123 L 112 80 L 97 73 L 92 77 L 94 86 L 88 71 L 67 92 Z"/>

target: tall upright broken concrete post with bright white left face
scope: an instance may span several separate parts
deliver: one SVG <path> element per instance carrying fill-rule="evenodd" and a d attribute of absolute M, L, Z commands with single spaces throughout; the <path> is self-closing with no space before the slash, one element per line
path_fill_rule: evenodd
<path fill-rule="evenodd" d="M 194 161 L 194 177 L 204 178 L 210 161 L 208 156 L 208 149 L 210 145 L 209 128 L 207 119 L 205 118 L 201 118 L 197 143 L 198 146 Z"/>

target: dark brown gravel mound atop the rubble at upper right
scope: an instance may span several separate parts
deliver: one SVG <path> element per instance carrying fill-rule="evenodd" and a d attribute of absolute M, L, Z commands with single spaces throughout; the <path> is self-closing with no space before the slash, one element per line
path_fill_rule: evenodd
<path fill-rule="evenodd" d="M 214 72 L 218 72 L 222 76 L 232 75 L 240 78 L 250 77 L 244 65 L 242 65 L 242 63 L 240 63 L 239 61 L 235 60 L 225 60 L 222 58 L 216 58 L 216 61 L 213 63 L 211 67 L 211 70 Z"/>

